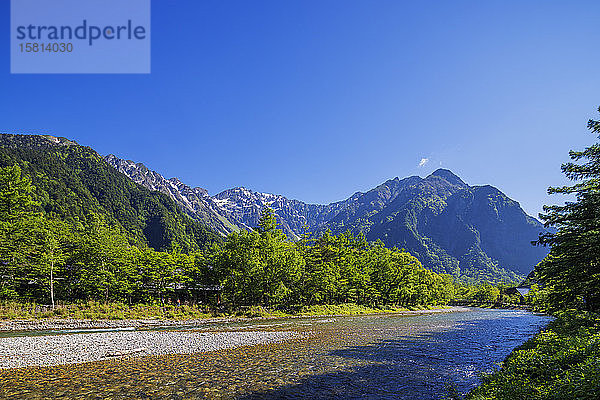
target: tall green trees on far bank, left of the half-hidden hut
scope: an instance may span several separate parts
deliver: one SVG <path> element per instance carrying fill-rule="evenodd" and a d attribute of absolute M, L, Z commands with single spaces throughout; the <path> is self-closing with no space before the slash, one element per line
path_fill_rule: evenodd
<path fill-rule="evenodd" d="M 162 300 L 177 284 L 187 290 L 194 254 L 132 245 L 121 225 L 94 212 L 77 224 L 42 213 L 19 167 L 0 168 L 0 182 L 0 299 L 131 303 Z"/>

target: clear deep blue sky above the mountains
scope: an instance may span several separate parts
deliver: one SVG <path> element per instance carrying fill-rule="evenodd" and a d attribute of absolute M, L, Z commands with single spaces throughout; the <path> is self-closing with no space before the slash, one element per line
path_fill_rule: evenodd
<path fill-rule="evenodd" d="M 328 203 L 444 167 L 537 215 L 595 139 L 598 1 L 153 0 L 150 75 L 10 75 L 0 14 L 0 131 L 211 194 Z"/>

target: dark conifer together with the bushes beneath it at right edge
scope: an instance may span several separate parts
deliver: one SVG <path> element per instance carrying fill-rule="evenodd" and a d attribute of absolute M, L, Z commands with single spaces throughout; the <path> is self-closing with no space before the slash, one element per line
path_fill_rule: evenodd
<path fill-rule="evenodd" d="M 599 109 L 600 111 L 600 109 Z M 600 133 L 600 122 L 588 128 Z M 502 369 L 484 377 L 469 400 L 597 399 L 600 393 L 600 143 L 569 153 L 562 165 L 572 186 L 551 187 L 549 194 L 575 195 L 576 201 L 545 206 L 541 218 L 555 233 L 538 244 L 550 254 L 535 268 L 525 300 L 557 319 L 513 351 Z"/>

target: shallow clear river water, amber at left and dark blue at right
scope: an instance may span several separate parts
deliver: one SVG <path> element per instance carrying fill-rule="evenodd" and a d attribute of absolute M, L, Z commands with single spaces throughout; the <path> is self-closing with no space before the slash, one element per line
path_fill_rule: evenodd
<path fill-rule="evenodd" d="M 466 393 L 548 317 L 469 309 L 214 324 L 296 331 L 298 339 L 194 355 L 0 371 L 14 399 L 440 399 Z M 189 328 L 197 329 L 197 328 Z"/>

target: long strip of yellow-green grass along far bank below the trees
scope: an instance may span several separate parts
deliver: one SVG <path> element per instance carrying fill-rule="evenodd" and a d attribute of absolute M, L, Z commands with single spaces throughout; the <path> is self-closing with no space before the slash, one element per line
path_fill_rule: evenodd
<path fill-rule="evenodd" d="M 294 311 L 267 309 L 262 306 L 240 308 L 228 314 L 211 313 L 210 310 L 198 306 L 174 306 L 158 304 L 101 303 L 88 301 L 57 306 L 50 310 L 47 306 L 35 303 L 4 302 L 0 303 L 0 320 L 13 319 L 164 319 L 186 320 L 212 317 L 246 317 L 246 318 L 280 318 L 289 316 L 318 315 L 360 315 L 393 313 L 402 311 L 427 310 L 444 306 L 414 306 L 409 308 L 397 306 L 366 307 L 354 303 L 338 305 L 313 305 L 300 307 Z"/>

